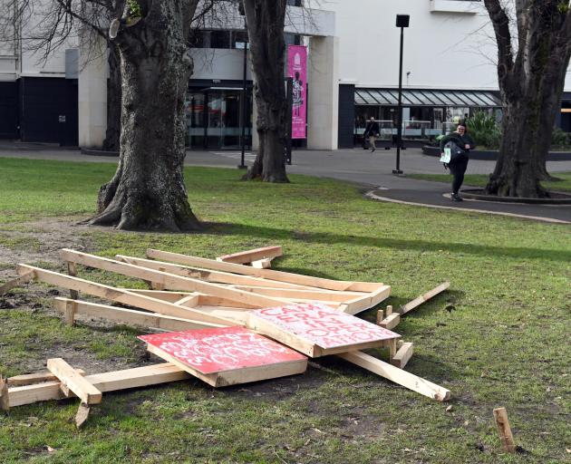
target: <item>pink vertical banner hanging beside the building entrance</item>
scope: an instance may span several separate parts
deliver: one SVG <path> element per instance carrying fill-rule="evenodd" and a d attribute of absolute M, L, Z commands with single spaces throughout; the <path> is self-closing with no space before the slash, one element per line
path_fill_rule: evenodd
<path fill-rule="evenodd" d="M 294 81 L 292 90 L 292 139 L 305 139 L 307 98 L 307 47 L 287 46 L 287 76 Z"/>

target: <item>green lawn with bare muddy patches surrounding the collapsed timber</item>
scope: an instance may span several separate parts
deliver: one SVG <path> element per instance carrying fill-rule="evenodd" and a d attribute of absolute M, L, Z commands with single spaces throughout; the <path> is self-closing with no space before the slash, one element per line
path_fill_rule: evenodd
<path fill-rule="evenodd" d="M 395 307 L 450 280 L 450 291 L 407 314 L 396 331 L 415 346 L 406 369 L 450 389 L 452 400 L 431 401 L 325 358 L 304 375 L 226 389 L 189 381 L 104 394 L 81 431 L 73 425 L 77 401 L 17 407 L 0 416 L 3 464 L 569 462 L 569 227 L 376 202 L 332 180 L 291 176 L 291 184 L 267 185 L 239 181 L 237 169 L 203 168 L 186 169 L 203 233 L 75 226 L 92 214 L 113 170 L 0 159 L 0 279 L 21 260 L 63 270 L 53 257 L 63 246 L 102 256 L 155 247 L 213 257 L 280 244 L 285 256 L 274 267 L 384 282 L 392 285 L 384 304 Z M 135 339 L 144 331 L 92 321 L 68 327 L 51 309 L 55 292 L 34 284 L 0 297 L 1 373 L 39 370 L 48 357 L 88 372 L 149 362 Z M 499 406 L 518 454 L 499 445 Z"/>

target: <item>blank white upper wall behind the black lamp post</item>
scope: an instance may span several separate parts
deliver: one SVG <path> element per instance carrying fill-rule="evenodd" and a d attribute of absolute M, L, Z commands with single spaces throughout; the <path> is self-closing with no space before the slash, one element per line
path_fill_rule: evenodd
<path fill-rule="evenodd" d="M 429 0 L 324 0 L 336 12 L 335 34 L 341 38 L 341 80 L 359 86 L 398 85 L 400 28 L 396 14 L 410 14 L 404 29 L 403 83 L 440 89 L 497 89 L 497 54 L 489 37 L 483 2 L 477 14 L 431 12 Z M 480 29 L 484 27 L 484 31 Z"/>

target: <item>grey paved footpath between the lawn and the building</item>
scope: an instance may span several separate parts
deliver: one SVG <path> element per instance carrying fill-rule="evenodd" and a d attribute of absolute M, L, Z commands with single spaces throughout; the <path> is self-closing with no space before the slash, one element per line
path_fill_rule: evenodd
<path fill-rule="evenodd" d="M 56 146 L 0 142 L 0 157 L 34 160 L 68 160 L 83 162 L 117 162 L 116 157 L 82 155 L 79 150 Z M 403 202 L 427 208 L 472 210 L 489 214 L 534 218 L 547 222 L 571 224 L 571 205 L 520 205 L 479 200 L 450 201 L 450 184 L 410 179 L 406 174 L 441 174 L 444 169 L 439 160 L 425 156 L 420 149 L 403 150 L 401 169 L 404 176 L 392 175 L 395 168 L 395 150 L 294 150 L 293 164 L 287 171 L 315 177 L 349 180 L 370 187 L 370 197 L 383 201 Z M 246 164 L 254 154 L 247 152 Z M 240 162 L 238 151 L 188 151 L 185 164 L 236 168 Z M 489 174 L 495 161 L 470 160 L 467 174 Z M 571 161 L 549 161 L 550 172 L 571 171 Z M 451 178 L 450 178 L 451 179 Z M 447 197 L 447 195 L 449 197 Z"/>

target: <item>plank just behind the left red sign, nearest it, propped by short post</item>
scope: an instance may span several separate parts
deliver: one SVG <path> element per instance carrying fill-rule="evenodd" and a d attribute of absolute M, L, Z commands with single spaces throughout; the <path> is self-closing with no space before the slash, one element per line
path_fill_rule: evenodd
<path fill-rule="evenodd" d="M 122 324 L 139 325 L 145 328 L 152 327 L 169 331 L 205 328 L 204 324 L 189 319 L 144 313 L 142 311 L 108 306 L 105 304 L 68 300 L 67 298 L 56 297 L 53 299 L 53 307 L 59 312 L 64 312 L 67 305 L 71 303 L 76 304 L 76 314 L 99 317 Z"/>

